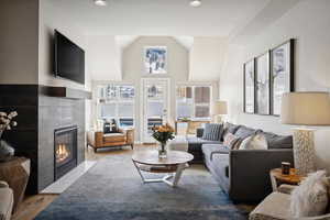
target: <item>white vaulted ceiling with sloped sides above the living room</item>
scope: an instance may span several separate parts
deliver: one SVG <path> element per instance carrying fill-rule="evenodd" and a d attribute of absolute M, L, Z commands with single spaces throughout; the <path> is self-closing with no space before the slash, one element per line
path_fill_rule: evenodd
<path fill-rule="evenodd" d="M 48 0 L 92 40 L 98 80 L 121 79 L 121 52 L 141 35 L 173 36 L 189 51 L 189 79 L 215 80 L 229 43 L 244 44 L 300 0 L 202 0 L 200 8 L 189 0 L 107 1 L 97 7 L 94 0 Z"/>

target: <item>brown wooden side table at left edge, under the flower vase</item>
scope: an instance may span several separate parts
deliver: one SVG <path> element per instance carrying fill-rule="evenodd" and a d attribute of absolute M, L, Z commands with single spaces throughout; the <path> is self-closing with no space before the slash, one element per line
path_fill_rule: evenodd
<path fill-rule="evenodd" d="M 30 176 L 31 162 L 25 157 L 13 157 L 0 163 L 0 180 L 7 182 L 14 194 L 13 212 L 23 200 Z"/>

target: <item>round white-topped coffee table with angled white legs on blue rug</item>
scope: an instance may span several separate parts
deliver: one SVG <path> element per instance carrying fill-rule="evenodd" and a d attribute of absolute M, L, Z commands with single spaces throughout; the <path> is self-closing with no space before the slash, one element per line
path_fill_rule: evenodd
<path fill-rule="evenodd" d="M 182 151 L 168 151 L 166 158 L 158 158 L 157 151 L 136 151 L 132 156 L 134 166 L 144 184 L 147 183 L 165 183 L 172 187 L 176 187 L 183 170 L 188 167 L 187 163 L 193 161 L 193 154 Z M 165 173 L 163 178 L 148 179 L 142 172 Z M 169 179 L 173 178 L 173 182 Z"/>

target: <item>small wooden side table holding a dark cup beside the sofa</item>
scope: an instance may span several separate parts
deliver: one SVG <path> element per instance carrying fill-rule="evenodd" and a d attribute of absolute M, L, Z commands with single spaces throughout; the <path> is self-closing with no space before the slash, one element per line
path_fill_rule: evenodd
<path fill-rule="evenodd" d="M 282 184 L 298 185 L 306 176 L 298 175 L 295 168 L 290 168 L 288 175 L 282 174 L 282 168 L 274 168 L 270 172 L 273 191 L 277 191 Z"/>

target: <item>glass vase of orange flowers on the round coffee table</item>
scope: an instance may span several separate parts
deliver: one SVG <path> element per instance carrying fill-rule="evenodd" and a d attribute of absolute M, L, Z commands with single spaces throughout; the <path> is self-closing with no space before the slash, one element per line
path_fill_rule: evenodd
<path fill-rule="evenodd" d="M 160 158 L 166 158 L 167 152 L 166 152 L 166 143 L 168 140 L 173 140 L 174 136 L 174 129 L 166 123 L 165 125 L 161 127 L 153 127 L 153 134 L 152 136 L 161 143 L 161 148 L 158 151 Z"/>

